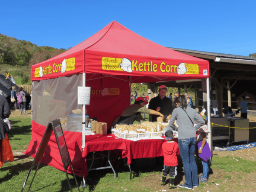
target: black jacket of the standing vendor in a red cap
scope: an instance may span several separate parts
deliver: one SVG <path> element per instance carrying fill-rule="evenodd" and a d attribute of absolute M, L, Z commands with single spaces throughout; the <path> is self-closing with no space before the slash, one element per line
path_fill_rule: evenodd
<path fill-rule="evenodd" d="M 173 106 L 171 99 L 166 96 L 161 99 L 160 96 L 152 98 L 149 102 L 148 108 L 156 111 L 157 107 L 160 107 L 160 113 L 164 115 L 163 122 L 166 121 L 166 117 L 172 114 Z M 157 121 L 158 115 L 152 115 L 152 122 Z"/>

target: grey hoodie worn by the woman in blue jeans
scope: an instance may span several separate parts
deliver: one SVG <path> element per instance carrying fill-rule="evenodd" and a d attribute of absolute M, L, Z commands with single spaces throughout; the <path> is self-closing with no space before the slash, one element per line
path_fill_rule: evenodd
<path fill-rule="evenodd" d="M 187 107 L 185 111 L 181 108 L 181 106 L 175 108 L 172 112 L 172 116 L 169 122 L 169 126 L 173 130 L 178 131 L 179 140 L 196 137 L 195 131 L 204 125 L 204 119 L 198 114 L 198 112 L 195 111 L 195 109 Z M 188 116 L 192 120 L 193 124 Z M 174 125 L 175 120 L 179 128 Z M 194 120 L 198 122 L 195 127 Z"/>

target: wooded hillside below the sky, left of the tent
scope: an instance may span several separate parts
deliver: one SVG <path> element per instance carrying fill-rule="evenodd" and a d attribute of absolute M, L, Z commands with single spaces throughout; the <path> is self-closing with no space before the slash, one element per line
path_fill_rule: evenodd
<path fill-rule="evenodd" d="M 29 41 L 0 34 L 0 64 L 31 67 L 65 51 L 49 46 L 38 47 Z"/>

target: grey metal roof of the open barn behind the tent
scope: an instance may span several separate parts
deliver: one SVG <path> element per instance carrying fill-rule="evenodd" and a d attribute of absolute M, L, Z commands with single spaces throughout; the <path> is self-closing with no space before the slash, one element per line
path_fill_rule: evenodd
<path fill-rule="evenodd" d="M 169 49 L 175 50 L 175 51 L 183 51 L 183 52 L 192 52 L 192 53 L 198 53 L 202 55 L 212 55 L 217 57 L 226 57 L 226 58 L 239 58 L 239 59 L 247 59 L 247 60 L 255 60 L 255 57 L 249 57 L 249 56 L 241 56 L 241 55 L 231 55 L 231 54 L 224 54 L 224 53 L 217 53 L 217 52 L 206 52 L 206 51 L 195 51 L 195 50 L 189 50 L 189 49 L 178 49 L 173 47 L 167 47 Z"/>

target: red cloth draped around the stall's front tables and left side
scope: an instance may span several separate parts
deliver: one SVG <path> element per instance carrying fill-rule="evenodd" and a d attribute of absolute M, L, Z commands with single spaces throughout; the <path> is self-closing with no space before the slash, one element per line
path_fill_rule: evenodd
<path fill-rule="evenodd" d="M 25 154 L 35 157 L 46 127 L 43 125 L 39 125 L 34 121 L 32 121 L 32 124 L 32 138 L 28 148 L 26 149 Z M 84 177 L 88 175 L 86 156 L 92 151 L 107 151 L 115 149 L 122 150 L 122 157 L 127 157 L 127 164 L 130 164 L 132 159 L 163 156 L 162 144 L 166 142 L 165 140 L 151 139 L 139 140 L 134 142 L 121 138 L 116 139 L 113 134 L 97 134 L 85 137 L 85 148 L 82 152 L 82 134 L 70 131 L 63 131 L 63 133 L 74 171 L 76 175 L 84 175 Z M 175 141 L 177 142 L 177 139 L 175 139 Z M 53 132 L 45 150 L 44 156 L 41 159 L 41 162 L 53 166 L 61 171 L 64 171 L 61 156 L 58 151 L 58 146 Z M 72 173 L 71 166 L 67 168 L 67 172 Z"/>

